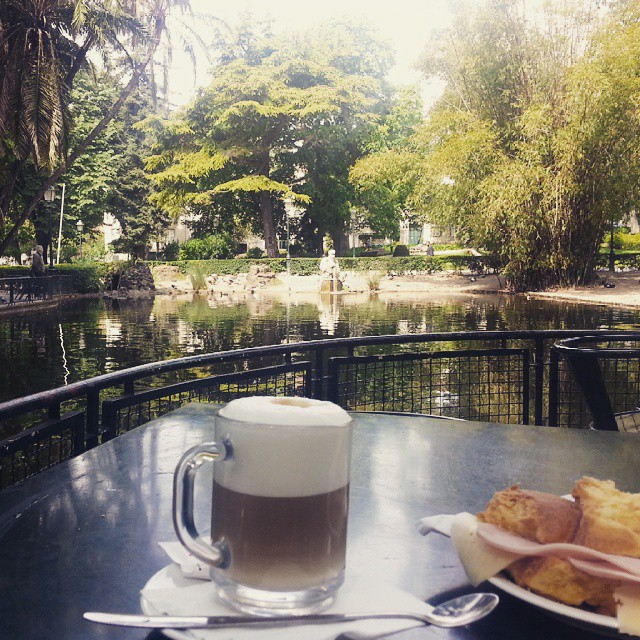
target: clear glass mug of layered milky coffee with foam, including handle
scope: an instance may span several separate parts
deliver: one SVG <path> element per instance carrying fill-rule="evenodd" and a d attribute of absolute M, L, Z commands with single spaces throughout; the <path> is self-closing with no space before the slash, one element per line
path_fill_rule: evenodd
<path fill-rule="evenodd" d="M 215 420 L 215 442 L 174 476 L 182 544 L 211 566 L 220 598 L 258 615 L 312 613 L 344 581 L 351 418 L 331 402 L 253 396 Z M 211 544 L 194 524 L 194 480 L 214 462 Z"/>

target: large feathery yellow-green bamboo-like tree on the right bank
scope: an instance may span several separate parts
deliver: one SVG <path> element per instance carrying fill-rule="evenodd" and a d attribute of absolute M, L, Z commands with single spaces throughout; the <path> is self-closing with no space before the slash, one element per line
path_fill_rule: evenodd
<path fill-rule="evenodd" d="M 424 55 L 448 82 L 414 140 L 414 208 L 498 253 L 514 289 L 581 284 L 635 202 L 637 0 L 601 25 L 580 3 L 466 6 Z M 587 10 L 585 10 L 585 7 Z"/>

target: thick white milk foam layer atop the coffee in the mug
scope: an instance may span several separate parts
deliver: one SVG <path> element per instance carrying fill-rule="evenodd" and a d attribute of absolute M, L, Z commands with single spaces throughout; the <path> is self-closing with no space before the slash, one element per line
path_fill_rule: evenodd
<path fill-rule="evenodd" d="M 253 396 L 232 400 L 216 419 L 216 440 L 230 459 L 214 465 L 216 482 L 240 493 L 310 496 L 349 482 L 351 418 L 331 402 Z"/>

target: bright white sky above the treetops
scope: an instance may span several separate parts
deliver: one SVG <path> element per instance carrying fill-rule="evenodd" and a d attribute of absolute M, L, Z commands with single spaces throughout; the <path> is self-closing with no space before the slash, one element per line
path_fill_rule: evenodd
<path fill-rule="evenodd" d="M 439 92 L 438 86 L 424 81 L 411 67 L 422 53 L 433 29 L 449 24 L 449 0 L 191 0 L 194 14 L 212 14 L 231 25 L 244 11 L 256 18 L 273 18 L 276 33 L 303 31 L 330 18 L 368 18 L 382 37 L 396 50 L 396 65 L 389 79 L 394 84 L 420 82 L 426 101 Z M 206 33 L 201 33 L 206 40 Z M 175 43 L 176 49 L 178 48 Z M 203 65 L 206 66 L 206 65 Z M 190 62 L 174 53 L 171 84 L 172 102 L 183 104 L 195 89 Z M 198 71 L 198 83 L 206 84 L 204 68 Z"/>

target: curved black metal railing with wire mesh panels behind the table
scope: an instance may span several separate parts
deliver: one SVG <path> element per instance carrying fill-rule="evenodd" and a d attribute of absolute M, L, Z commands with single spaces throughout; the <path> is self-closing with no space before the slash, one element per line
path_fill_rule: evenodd
<path fill-rule="evenodd" d="M 5 437 L 0 440 L 0 488 L 186 402 L 227 402 L 246 395 L 300 395 L 328 399 L 348 410 L 586 428 L 588 410 L 568 365 L 552 346 L 562 338 L 598 333 L 339 338 L 189 356 L 108 373 L 0 404 Z"/>

